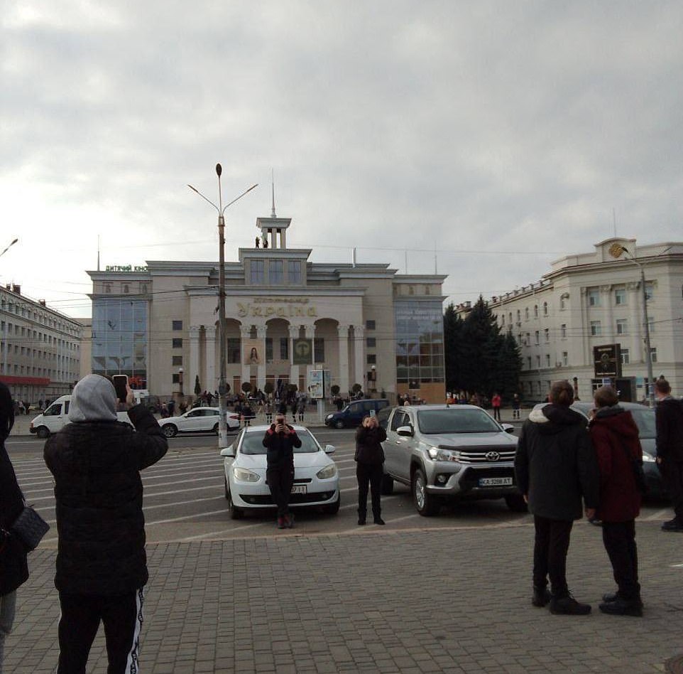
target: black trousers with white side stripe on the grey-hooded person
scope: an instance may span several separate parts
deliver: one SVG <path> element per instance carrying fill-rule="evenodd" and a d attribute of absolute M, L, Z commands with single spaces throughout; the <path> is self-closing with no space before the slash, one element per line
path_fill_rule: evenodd
<path fill-rule="evenodd" d="M 107 674 L 140 670 L 138 646 L 142 626 L 143 589 L 126 594 L 68 594 L 60 592 L 60 656 L 57 674 L 85 674 L 92 641 L 104 624 Z"/>

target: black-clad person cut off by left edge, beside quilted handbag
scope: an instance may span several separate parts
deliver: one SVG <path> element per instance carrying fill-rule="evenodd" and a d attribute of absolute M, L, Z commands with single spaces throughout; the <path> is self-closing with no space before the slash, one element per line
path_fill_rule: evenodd
<path fill-rule="evenodd" d="M 0 382 L 0 672 L 5 637 L 12 629 L 16 589 L 28 579 L 26 547 L 10 533 L 23 510 L 23 496 L 5 449 L 14 425 L 14 403 L 9 388 Z"/>

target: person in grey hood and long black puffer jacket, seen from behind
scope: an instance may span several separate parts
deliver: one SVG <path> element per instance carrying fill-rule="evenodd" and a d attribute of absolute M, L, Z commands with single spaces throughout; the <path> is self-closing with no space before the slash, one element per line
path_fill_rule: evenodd
<path fill-rule="evenodd" d="M 133 405 L 128 389 L 126 405 Z M 58 674 L 84 672 L 104 623 L 109 674 L 138 669 L 143 587 L 148 580 L 142 469 L 168 449 L 144 405 L 129 407 L 135 429 L 116 417 L 114 385 L 87 375 L 75 385 L 70 424 L 45 443 L 55 478 L 59 535 L 55 586 L 62 616 Z"/>

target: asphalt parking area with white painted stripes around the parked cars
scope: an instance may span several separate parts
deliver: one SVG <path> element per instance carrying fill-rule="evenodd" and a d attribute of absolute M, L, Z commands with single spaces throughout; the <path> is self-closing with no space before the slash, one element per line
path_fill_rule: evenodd
<path fill-rule="evenodd" d="M 530 523 L 530 515 L 513 513 L 502 499 L 454 503 L 433 518 L 421 517 L 412 505 L 410 490 L 395 485 L 391 496 L 382 497 L 386 527 L 356 523 L 356 475 L 354 431 L 314 429 L 321 444 L 333 444 L 342 492 L 337 515 L 317 509 L 297 510 L 296 527 L 288 534 L 368 533 L 371 530 L 437 530 L 454 528 L 500 528 Z M 53 527 L 43 541 L 56 547 L 53 481 L 42 458 L 43 441 L 17 437 L 7 442 L 19 483 L 29 503 L 33 503 Z M 171 439 L 168 454 L 155 466 L 143 471 L 144 510 L 148 542 L 226 540 L 272 535 L 271 512 L 248 513 L 243 520 L 231 520 L 223 485 L 223 461 L 215 436 L 185 436 Z M 368 499 L 369 501 L 369 499 Z M 369 510 L 369 503 L 368 503 Z M 667 503 L 646 503 L 640 520 L 669 518 Z"/>

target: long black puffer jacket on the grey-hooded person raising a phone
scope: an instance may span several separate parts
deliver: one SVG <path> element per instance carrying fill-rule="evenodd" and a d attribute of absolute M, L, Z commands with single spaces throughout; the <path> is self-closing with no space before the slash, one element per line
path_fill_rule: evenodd
<path fill-rule="evenodd" d="M 143 405 L 117 421 L 68 424 L 45 443 L 55 476 L 60 592 L 123 594 L 148 579 L 140 471 L 168 443 Z"/>

